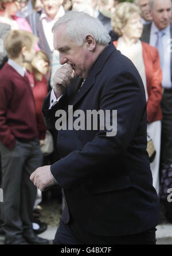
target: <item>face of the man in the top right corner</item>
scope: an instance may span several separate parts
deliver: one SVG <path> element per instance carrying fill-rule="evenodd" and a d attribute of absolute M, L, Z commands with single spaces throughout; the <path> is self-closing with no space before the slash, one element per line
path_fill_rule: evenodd
<path fill-rule="evenodd" d="M 167 28 L 171 22 L 171 0 L 155 0 L 152 16 L 159 30 Z"/>

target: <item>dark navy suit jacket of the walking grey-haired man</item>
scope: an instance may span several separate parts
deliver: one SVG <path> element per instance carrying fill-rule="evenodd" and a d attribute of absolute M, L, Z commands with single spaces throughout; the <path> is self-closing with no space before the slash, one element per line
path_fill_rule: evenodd
<path fill-rule="evenodd" d="M 58 132 L 61 160 L 50 169 L 64 189 L 70 215 L 82 230 L 100 236 L 136 234 L 156 226 L 158 197 L 146 151 L 146 98 L 138 71 L 111 43 L 73 94 L 75 86 L 50 110 L 50 94 L 46 97 L 42 110 L 48 128 L 54 128 L 56 111 L 67 111 L 68 105 L 85 116 L 87 110 L 116 109 L 118 124 L 113 137 L 106 130 Z"/>

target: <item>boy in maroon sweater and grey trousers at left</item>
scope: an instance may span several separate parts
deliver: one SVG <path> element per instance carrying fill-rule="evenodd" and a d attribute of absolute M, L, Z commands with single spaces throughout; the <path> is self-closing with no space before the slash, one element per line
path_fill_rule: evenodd
<path fill-rule="evenodd" d="M 30 32 L 11 31 L 5 40 L 9 60 L 0 70 L 1 214 L 5 244 L 48 243 L 32 230 L 37 189 L 29 177 L 41 166 L 42 154 L 34 98 L 24 62 L 32 61 L 36 41 L 37 37 Z"/>

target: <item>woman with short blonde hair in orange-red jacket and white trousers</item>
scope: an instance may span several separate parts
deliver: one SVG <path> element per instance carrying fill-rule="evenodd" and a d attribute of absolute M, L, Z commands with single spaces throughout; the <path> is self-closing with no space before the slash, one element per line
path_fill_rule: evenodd
<path fill-rule="evenodd" d="M 135 64 L 142 78 L 147 100 L 147 135 L 153 140 L 156 155 L 150 163 L 153 185 L 159 193 L 159 158 L 161 148 L 162 72 L 158 50 L 139 40 L 143 25 L 140 8 L 134 3 L 119 3 L 112 15 L 112 27 L 120 36 L 114 45 Z"/>

